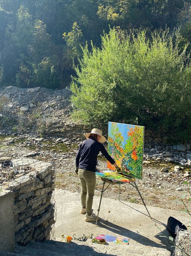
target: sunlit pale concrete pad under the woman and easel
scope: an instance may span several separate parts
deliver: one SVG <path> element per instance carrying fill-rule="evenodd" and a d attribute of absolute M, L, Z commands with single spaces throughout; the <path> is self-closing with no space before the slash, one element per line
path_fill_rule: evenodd
<path fill-rule="evenodd" d="M 100 192 L 101 194 L 101 192 Z M 121 195 L 122 200 L 122 195 Z M 79 213 L 81 209 L 80 195 L 61 189 L 55 190 L 57 208 L 57 220 L 55 223 L 55 237 L 93 233 L 93 237 L 99 234 L 110 234 L 130 238 L 130 245 L 150 246 L 164 248 L 173 251 L 172 243 L 166 237 L 161 237 L 161 231 L 169 236 L 166 231 L 167 219 L 173 216 L 182 223 L 190 221 L 190 216 L 185 212 L 170 209 L 147 206 L 153 220 L 148 216 L 144 205 L 129 202 L 119 202 L 110 198 L 102 198 L 98 225 L 94 222 L 84 221 L 85 216 Z M 97 214 L 100 197 L 95 196 L 93 201 L 94 213 Z M 110 212 L 109 212 L 110 211 Z M 156 227 L 156 225 L 158 227 Z M 114 254 L 115 255 L 115 254 Z"/>

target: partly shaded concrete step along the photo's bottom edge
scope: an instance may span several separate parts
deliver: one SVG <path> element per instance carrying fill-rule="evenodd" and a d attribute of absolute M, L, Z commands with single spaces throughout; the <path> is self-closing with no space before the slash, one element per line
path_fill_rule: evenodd
<path fill-rule="evenodd" d="M 59 240 L 59 241 L 57 241 Z M 72 241 L 72 243 L 61 242 L 57 238 L 53 240 L 45 240 L 42 243 L 30 242 L 27 246 L 17 246 L 17 252 L 29 256 L 170 256 L 171 253 L 165 248 L 157 248 L 151 246 L 140 246 L 139 244 L 122 245 L 109 243 L 106 245 L 93 244 L 91 239 L 86 242 Z M 1 255 L 0 255 L 1 256 Z M 4 256 L 4 255 L 3 255 Z M 11 255 L 12 256 L 12 255 Z M 13 255 L 15 256 L 15 255 Z M 18 255 L 16 255 L 18 256 Z"/>

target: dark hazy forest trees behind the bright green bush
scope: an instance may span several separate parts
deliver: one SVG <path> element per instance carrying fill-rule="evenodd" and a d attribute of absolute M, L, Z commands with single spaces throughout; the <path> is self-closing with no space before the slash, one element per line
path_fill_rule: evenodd
<path fill-rule="evenodd" d="M 35 73 L 46 59 L 58 78 L 47 87 L 69 85 L 71 75 L 76 76 L 73 62 L 78 65 L 82 56 L 80 45 L 92 41 L 100 47 L 100 35 L 109 32 L 109 25 L 127 33 L 147 28 L 148 37 L 181 26 L 180 46 L 191 40 L 189 0 L 0 0 L 0 20 L 0 86 L 46 87 Z"/>

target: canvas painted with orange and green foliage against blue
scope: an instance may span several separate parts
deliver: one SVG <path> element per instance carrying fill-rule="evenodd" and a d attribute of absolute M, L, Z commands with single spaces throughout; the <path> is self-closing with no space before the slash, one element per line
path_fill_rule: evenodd
<path fill-rule="evenodd" d="M 108 123 L 108 153 L 122 174 L 142 179 L 144 126 Z M 107 162 L 111 170 L 115 168 Z"/>

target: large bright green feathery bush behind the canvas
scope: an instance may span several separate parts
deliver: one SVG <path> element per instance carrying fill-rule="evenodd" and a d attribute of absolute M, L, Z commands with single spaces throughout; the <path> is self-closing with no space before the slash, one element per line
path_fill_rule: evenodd
<path fill-rule="evenodd" d="M 86 46 L 71 84 L 73 117 L 88 124 L 108 121 L 162 127 L 187 140 L 191 132 L 191 66 L 179 33 L 111 29 L 102 48 Z"/>

